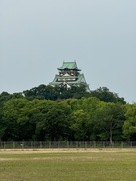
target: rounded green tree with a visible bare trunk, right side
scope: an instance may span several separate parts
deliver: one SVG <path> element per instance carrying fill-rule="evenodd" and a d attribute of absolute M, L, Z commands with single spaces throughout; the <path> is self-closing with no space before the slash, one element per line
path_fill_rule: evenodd
<path fill-rule="evenodd" d="M 124 108 L 119 103 L 103 103 L 95 114 L 95 129 L 98 129 L 101 139 L 122 139 L 122 125 L 124 122 Z"/>

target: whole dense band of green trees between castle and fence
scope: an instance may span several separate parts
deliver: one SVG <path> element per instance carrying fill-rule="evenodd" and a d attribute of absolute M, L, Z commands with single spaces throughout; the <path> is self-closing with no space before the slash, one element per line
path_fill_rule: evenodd
<path fill-rule="evenodd" d="M 0 140 L 136 140 L 136 104 L 106 87 L 40 85 L 0 94 Z"/>

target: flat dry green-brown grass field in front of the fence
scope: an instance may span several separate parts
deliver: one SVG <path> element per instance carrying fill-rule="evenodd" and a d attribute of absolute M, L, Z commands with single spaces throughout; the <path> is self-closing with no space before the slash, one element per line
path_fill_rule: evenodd
<path fill-rule="evenodd" d="M 0 181 L 136 181 L 135 149 L 0 151 Z"/>

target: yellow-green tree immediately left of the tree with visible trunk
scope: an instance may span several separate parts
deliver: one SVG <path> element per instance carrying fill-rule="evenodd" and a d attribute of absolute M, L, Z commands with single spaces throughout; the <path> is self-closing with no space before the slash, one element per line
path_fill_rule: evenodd
<path fill-rule="evenodd" d="M 94 132 L 95 112 L 99 107 L 100 100 L 96 97 L 68 99 L 67 104 L 71 107 L 71 139 L 94 140 L 97 133 Z"/>

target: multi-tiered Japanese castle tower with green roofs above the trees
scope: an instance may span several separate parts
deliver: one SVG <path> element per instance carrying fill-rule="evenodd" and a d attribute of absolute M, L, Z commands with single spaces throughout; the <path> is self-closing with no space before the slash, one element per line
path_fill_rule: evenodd
<path fill-rule="evenodd" d="M 55 75 L 53 82 L 49 85 L 51 86 L 66 86 L 70 88 L 71 86 L 85 85 L 87 91 L 90 91 L 88 84 L 85 81 L 84 74 L 80 73 L 76 62 L 63 62 L 63 65 L 58 68 L 59 73 Z"/>

